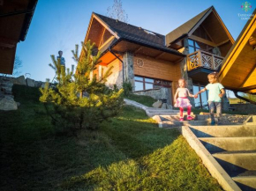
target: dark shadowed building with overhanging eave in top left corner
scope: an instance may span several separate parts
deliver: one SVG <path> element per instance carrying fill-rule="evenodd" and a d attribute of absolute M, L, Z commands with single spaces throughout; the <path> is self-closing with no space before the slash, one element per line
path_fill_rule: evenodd
<path fill-rule="evenodd" d="M 37 0 L 0 1 L 0 73 L 12 74 L 17 43 L 26 39 Z"/>

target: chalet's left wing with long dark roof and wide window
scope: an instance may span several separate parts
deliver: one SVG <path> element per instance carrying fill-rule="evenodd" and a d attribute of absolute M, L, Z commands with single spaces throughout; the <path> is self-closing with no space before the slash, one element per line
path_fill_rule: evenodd
<path fill-rule="evenodd" d="M 179 63 L 185 55 L 166 48 L 164 35 L 93 13 L 87 40 L 95 42 L 95 47 L 102 53 L 102 62 L 94 75 L 102 77 L 112 67 L 109 86 L 117 84 L 121 87 L 123 81 L 129 80 L 134 92 L 161 87 L 175 92 L 181 77 Z M 172 94 L 168 99 L 172 99 Z"/>

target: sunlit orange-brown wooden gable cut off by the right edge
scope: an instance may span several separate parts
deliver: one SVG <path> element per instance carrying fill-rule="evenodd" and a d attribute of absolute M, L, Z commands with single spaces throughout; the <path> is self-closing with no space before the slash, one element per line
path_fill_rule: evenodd
<path fill-rule="evenodd" d="M 256 94 L 256 9 L 225 57 L 220 80 L 231 90 Z"/>

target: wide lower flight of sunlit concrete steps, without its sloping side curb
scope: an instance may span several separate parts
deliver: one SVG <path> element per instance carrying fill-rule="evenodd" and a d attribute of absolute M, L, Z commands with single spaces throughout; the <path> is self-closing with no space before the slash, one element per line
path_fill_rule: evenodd
<path fill-rule="evenodd" d="M 255 119 L 253 117 L 252 119 Z M 207 151 L 241 190 L 256 190 L 256 125 L 191 126 Z"/>

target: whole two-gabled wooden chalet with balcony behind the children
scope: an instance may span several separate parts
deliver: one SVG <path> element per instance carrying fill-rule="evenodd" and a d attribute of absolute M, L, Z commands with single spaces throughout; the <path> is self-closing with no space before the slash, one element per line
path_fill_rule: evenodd
<path fill-rule="evenodd" d="M 110 86 L 129 80 L 135 93 L 168 99 L 169 104 L 180 77 L 188 80 L 191 92 L 199 92 L 235 42 L 213 6 L 167 35 L 93 12 L 87 40 L 102 52 L 94 75 L 102 77 L 113 66 Z M 207 92 L 191 101 L 196 107 L 207 105 Z"/>

